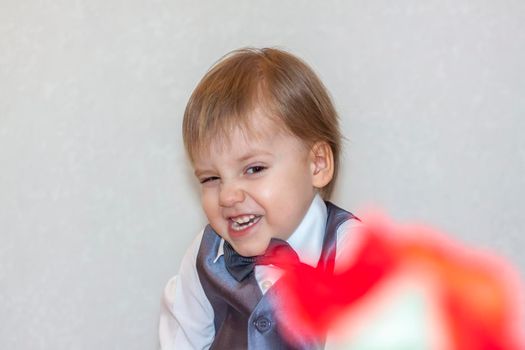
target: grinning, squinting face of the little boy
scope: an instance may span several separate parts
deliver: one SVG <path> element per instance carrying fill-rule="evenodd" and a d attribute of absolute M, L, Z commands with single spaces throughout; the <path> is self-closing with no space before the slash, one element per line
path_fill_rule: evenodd
<path fill-rule="evenodd" d="M 260 112 L 251 123 L 256 137 L 235 129 L 228 143 L 212 141 L 194 158 L 209 223 L 244 256 L 263 254 L 271 238 L 288 239 L 315 196 L 304 143 Z"/>

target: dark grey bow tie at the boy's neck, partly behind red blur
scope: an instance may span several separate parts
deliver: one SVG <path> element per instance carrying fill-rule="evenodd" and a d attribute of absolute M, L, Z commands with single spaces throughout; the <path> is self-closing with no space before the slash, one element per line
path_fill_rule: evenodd
<path fill-rule="evenodd" d="M 250 257 L 239 255 L 230 243 L 224 241 L 224 263 L 228 272 L 241 282 L 253 272 L 255 265 L 272 264 L 290 269 L 297 266 L 300 261 L 297 253 L 286 241 L 272 238 L 263 255 Z"/>

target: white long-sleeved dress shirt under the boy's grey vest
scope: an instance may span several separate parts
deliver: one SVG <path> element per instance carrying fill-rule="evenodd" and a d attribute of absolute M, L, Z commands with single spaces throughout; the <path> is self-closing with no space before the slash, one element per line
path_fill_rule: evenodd
<path fill-rule="evenodd" d="M 301 262 L 317 266 L 321 256 L 327 220 L 327 209 L 317 195 L 303 220 L 287 242 L 297 252 Z M 344 222 L 337 231 L 336 261 L 352 254 L 357 237 L 347 234 L 357 220 Z M 161 304 L 159 340 L 162 350 L 208 349 L 215 336 L 213 308 L 204 293 L 196 268 L 203 231 L 184 255 L 178 275 L 166 285 Z M 349 239 L 351 238 L 351 242 Z M 221 241 L 215 262 L 223 255 Z M 345 259 L 346 260 L 346 259 Z M 255 279 L 264 294 L 281 277 L 282 270 L 273 265 L 256 265 Z"/>

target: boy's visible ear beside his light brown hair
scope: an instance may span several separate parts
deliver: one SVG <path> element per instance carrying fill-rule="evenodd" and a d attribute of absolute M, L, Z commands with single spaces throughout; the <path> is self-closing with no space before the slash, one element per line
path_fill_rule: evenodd
<path fill-rule="evenodd" d="M 334 177 L 334 154 L 327 142 L 316 142 L 310 150 L 312 185 L 323 188 Z"/>

